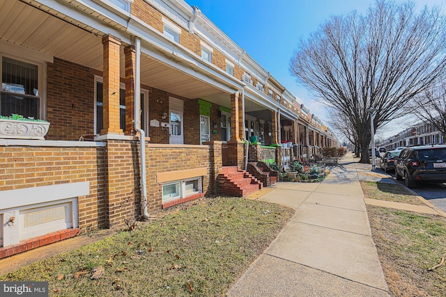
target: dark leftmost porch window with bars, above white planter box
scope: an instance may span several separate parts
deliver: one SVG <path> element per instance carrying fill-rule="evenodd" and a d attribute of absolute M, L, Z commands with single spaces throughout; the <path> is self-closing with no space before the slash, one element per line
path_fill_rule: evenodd
<path fill-rule="evenodd" d="M 0 114 L 17 113 L 39 118 L 39 67 L 13 58 L 1 58 Z"/>

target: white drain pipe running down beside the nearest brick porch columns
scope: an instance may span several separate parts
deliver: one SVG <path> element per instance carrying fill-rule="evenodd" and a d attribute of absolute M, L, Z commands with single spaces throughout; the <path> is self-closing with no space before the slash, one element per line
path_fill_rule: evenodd
<path fill-rule="evenodd" d="M 141 184 L 141 216 L 145 219 L 150 218 L 147 212 L 147 184 L 146 184 L 146 134 L 141 129 L 141 40 L 135 38 L 135 74 L 134 74 L 134 129 L 139 133 L 139 154 L 141 155 L 140 181 Z"/>

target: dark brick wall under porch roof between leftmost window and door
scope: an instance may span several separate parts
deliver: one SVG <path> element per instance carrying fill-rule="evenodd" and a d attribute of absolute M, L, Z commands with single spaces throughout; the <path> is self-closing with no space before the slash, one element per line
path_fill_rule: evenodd
<path fill-rule="evenodd" d="M 47 66 L 49 140 L 77 141 L 93 134 L 94 76 L 88 67 L 60 58 Z"/>

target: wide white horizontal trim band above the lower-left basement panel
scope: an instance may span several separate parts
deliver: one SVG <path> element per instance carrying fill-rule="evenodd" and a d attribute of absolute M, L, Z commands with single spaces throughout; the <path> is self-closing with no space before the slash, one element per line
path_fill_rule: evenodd
<path fill-rule="evenodd" d="M 0 191 L 1 210 L 23 207 L 38 203 L 59 201 L 89 195 L 90 182 L 72 182 L 51 186 L 17 188 L 17 190 Z M 75 211 L 73 207 L 73 211 Z M 3 211 L 2 211 L 3 212 Z M 77 214 L 77 209 L 75 214 Z"/>

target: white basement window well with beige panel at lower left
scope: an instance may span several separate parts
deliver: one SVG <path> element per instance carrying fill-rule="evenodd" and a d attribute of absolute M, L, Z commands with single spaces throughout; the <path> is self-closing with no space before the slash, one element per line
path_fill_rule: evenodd
<path fill-rule="evenodd" d="M 89 182 L 1 191 L 0 246 L 77 228 L 79 196 L 89 195 Z"/>

